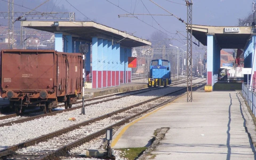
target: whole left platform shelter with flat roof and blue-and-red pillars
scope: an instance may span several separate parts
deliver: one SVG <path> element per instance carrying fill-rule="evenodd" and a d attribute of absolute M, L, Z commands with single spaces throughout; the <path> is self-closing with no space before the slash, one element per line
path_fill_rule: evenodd
<path fill-rule="evenodd" d="M 86 77 L 91 77 L 93 89 L 130 83 L 131 48 L 151 45 L 145 39 L 92 21 L 22 21 L 21 26 L 54 33 L 57 51 L 78 53 L 80 44 L 88 44 Z"/>

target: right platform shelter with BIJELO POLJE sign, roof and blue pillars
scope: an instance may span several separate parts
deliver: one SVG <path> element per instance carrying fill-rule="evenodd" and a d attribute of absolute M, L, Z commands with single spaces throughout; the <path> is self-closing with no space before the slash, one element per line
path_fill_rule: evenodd
<path fill-rule="evenodd" d="M 256 34 L 251 26 L 203 26 L 192 25 L 193 36 L 207 46 L 207 85 L 214 84 L 218 79 L 221 49 L 243 49 L 244 67 L 251 68 L 255 49 Z M 256 78 L 256 65 L 253 77 Z M 245 77 L 247 81 L 247 77 Z"/>

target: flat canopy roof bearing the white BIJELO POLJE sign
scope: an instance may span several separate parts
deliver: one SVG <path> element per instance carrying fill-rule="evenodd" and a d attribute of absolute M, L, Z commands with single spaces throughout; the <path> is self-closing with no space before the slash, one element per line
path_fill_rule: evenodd
<path fill-rule="evenodd" d="M 215 35 L 221 48 L 243 49 L 251 36 L 251 27 L 192 25 L 192 35 L 205 46 L 207 34 Z"/>

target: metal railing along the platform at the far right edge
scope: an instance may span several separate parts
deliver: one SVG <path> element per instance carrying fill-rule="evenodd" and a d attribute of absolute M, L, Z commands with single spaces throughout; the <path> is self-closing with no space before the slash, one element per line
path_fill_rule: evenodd
<path fill-rule="evenodd" d="M 255 115 L 255 104 L 256 104 L 256 94 L 253 92 L 254 88 L 249 88 L 245 83 L 242 83 L 242 94 L 245 97 L 248 105 L 250 106 L 251 111 Z"/>

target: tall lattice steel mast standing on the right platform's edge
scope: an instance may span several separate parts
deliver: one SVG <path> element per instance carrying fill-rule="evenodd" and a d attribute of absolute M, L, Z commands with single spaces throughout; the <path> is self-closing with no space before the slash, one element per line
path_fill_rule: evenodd
<path fill-rule="evenodd" d="M 187 6 L 187 102 L 192 102 L 192 0 Z"/>

